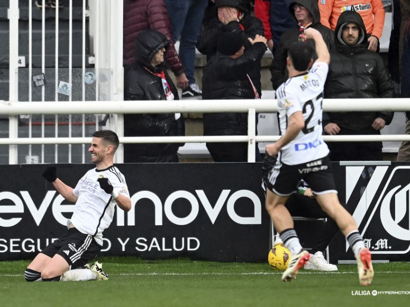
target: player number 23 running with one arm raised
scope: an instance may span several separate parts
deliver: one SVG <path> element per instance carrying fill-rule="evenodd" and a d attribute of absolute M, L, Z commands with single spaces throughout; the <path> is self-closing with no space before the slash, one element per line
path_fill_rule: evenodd
<path fill-rule="evenodd" d="M 360 283 L 368 286 L 374 275 L 372 255 L 365 248 L 352 215 L 339 202 L 329 149 L 322 138 L 323 86 L 330 54 L 317 30 L 308 28 L 304 35 L 315 41 L 318 58 L 313 62 L 315 50 L 303 41 L 290 46 L 286 59 L 289 79 L 276 91 L 282 137 L 266 146 L 265 163 L 276 158 L 264 178 L 268 187 L 266 208 L 284 245 L 292 253 L 282 280 L 296 278 L 299 269 L 310 259 L 309 252 L 300 245 L 292 216 L 284 206 L 289 195 L 296 192 L 298 181 L 304 179 L 316 194 L 322 210 L 336 221 L 346 237 L 357 259 Z"/>

